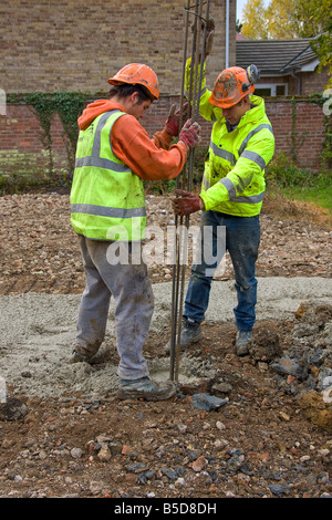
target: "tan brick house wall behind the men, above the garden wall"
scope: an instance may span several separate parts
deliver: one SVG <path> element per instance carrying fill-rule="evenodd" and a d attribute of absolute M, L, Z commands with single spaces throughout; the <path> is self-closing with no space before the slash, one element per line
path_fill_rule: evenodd
<path fill-rule="evenodd" d="M 1 2 L 0 89 L 103 92 L 122 66 L 143 62 L 157 73 L 163 93 L 178 94 L 186 6 L 186 0 Z M 225 6 L 210 0 L 216 21 L 211 82 L 225 67 Z M 230 0 L 229 40 L 234 63 L 236 0 Z"/>

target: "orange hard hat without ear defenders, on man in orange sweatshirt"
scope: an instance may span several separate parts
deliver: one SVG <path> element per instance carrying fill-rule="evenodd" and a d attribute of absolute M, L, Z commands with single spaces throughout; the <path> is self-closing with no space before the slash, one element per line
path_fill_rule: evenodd
<path fill-rule="evenodd" d="M 123 66 L 113 77 L 110 77 L 108 83 L 111 85 L 118 85 L 120 83 L 143 85 L 155 100 L 159 97 L 157 74 L 149 66 L 142 63 L 129 63 Z"/>

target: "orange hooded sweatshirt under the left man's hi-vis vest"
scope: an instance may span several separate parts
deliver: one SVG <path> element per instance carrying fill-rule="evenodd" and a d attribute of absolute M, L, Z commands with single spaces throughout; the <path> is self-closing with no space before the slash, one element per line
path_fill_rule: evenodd
<path fill-rule="evenodd" d="M 80 129 L 87 128 L 95 117 L 113 110 L 125 112 L 112 100 L 91 103 L 79 117 Z M 181 171 L 187 160 L 187 147 L 184 143 L 170 146 L 172 141 L 173 136 L 165 129 L 151 139 L 141 123 L 129 114 L 118 117 L 111 132 L 111 145 L 116 157 L 144 180 L 173 179 Z"/>

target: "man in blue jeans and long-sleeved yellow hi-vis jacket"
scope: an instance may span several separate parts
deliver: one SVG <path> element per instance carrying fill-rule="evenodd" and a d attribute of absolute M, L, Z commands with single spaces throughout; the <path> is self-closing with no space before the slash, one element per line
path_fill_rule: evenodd
<path fill-rule="evenodd" d="M 212 32 L 214 24 L 210 24 L 206 34 L 209 52 Z M 190 65 L 188 60 L 187 82 Z M 258 79 L 256 65 L 247 70 L 230 66 L 220 72 L 210 92 L 206 89 L 204 70 L 199 113 L 212 122 L 212 131 L 201 189 L 199 195 L 177 190 L 178 197 L 173 202 L 176 215 L 203 211 L 197 245 L 199 257 L 191 268 L 185 300 L 181 347 L 199 341 L 203 335 L 200 323 L 209 304 L 212 278 L 227 250 L 234 266 L 238 300 L 234 309 L 236 352 L 238 355 L 249 353 L 256 321 L 255 269 L 260 243 L 264 167 L 274 150 L 264 101 L 253 94 Z M 189 92 L 189 85 L 186 89 Z M 225 229 L 225 233 L 220 233 L 220 229 Z M 205 233 L 205 230 L 210 231 Z M 209 251 L 209 259 L 201 254 L 205 251 Z"/>

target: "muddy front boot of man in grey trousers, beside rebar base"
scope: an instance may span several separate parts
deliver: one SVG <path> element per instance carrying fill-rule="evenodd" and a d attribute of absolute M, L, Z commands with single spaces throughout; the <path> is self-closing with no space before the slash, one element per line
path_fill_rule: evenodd
<path fill-rule="evenodd" d="M 172 382 L 155 383 L 149 377 L 141 379 L 121 379 L 117 397 L 120 399 L 142 398 L 146 401 L 165 401 L 175 395 L 176 386 Z"/>

